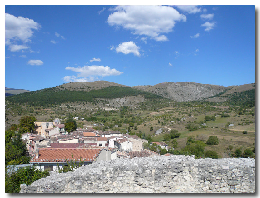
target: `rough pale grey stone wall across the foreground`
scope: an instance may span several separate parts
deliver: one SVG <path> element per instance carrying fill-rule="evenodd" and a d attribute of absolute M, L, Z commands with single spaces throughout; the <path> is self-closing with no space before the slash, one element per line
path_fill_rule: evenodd
<path fill-rule="evenodd" d="M 51 172 L 20 192 L 255 192 L 254 178 L 252 158 L 136 157 Z"/>

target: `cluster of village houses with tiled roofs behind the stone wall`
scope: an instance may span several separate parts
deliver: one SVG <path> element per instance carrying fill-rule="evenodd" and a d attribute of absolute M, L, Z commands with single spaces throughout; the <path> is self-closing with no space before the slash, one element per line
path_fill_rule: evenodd
<path fill-rule="evenodd" d="M 58 118 L 54 122 L 36 122 L 35 131 L 22 134 L 22 140 L 31 157 L 30 164 L 49 171 L 57 171 L 57 166 L 66 166 L 67 161 L 71 160 L 86 165 L 120 157 L 159 155 L 143 149 L 143 142 L 148 143 L 147 140 L 136 135 L 121 134 L 120 131 L 89 128 L 67 133 Z M 168 149 L 164 142 L 152 143 Z"/>

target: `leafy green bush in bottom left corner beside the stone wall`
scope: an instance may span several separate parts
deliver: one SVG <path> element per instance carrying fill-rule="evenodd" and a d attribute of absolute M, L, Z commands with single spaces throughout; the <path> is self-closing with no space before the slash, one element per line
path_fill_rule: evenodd
<path fill-rule="evenodd" d="M 40 171 L 35 166 L 18 168 L 17 171 L 5 169 L 5 192 L 20 192 L 21 184 L 31 185 L 32 182 L 49 176 L 48 171 Z"/>

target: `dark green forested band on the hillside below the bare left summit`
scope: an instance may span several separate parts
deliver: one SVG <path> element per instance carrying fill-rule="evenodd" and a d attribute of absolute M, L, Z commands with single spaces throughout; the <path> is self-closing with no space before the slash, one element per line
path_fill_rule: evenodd
<path fill-rule="evenodd" d="M 130 87 L 111 86 L 99 90 L 69 91 L 59 90 L 56 87 L 26 92 L 6 97 L 11 103 L 28 104 L 31 106 L 60 105 L 65 102 L 94 102 L 95 98 L 123 98 L 125 96 L 143 95 L 145 98 L 162 98 L 156 94 L 136 90 Z"/>

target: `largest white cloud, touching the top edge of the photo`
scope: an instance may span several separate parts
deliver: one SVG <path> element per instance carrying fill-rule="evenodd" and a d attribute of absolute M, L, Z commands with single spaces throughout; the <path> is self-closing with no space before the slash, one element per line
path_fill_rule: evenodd
<path fill-rule="evenodd" d="M 132 34 L 146 35 L 156 41 L 168 41 L 162 33 L 169 33 L 176 21 L 186 16 L 169 6 L 116 6 L 108 17 L 111 26 L 122 26 Z"/>

